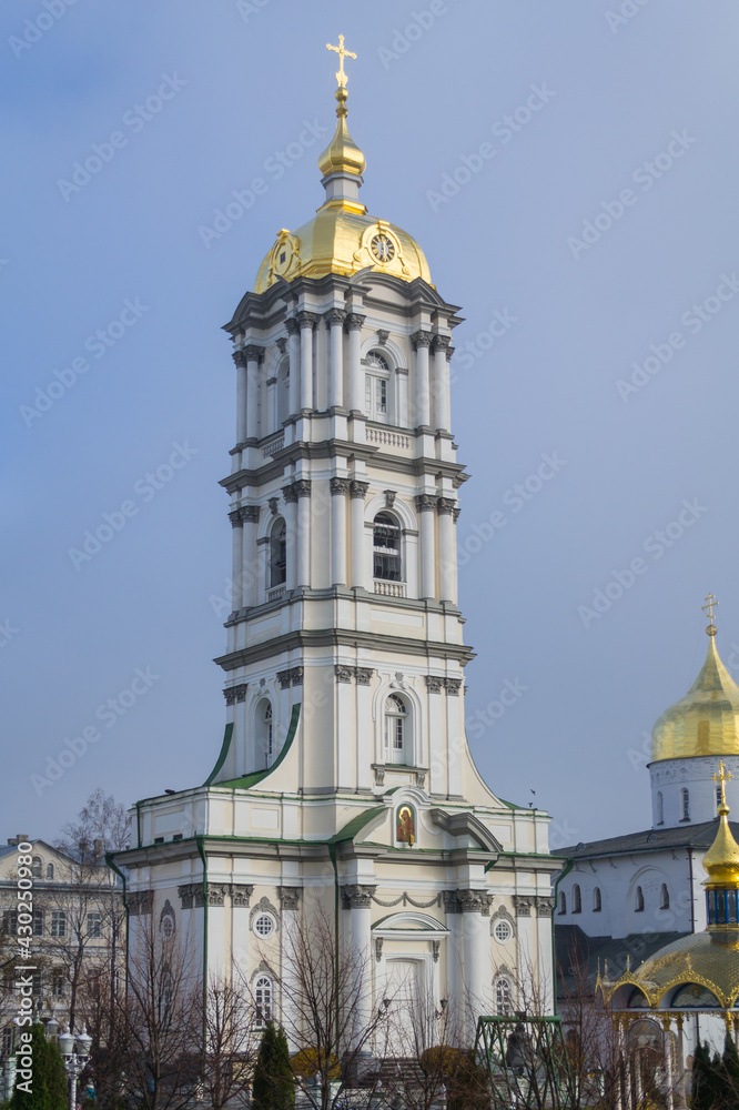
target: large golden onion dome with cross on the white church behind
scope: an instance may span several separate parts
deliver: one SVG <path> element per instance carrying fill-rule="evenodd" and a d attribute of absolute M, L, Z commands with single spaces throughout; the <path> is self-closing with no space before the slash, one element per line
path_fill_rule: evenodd
<path fill-rule="evenodd" d="M 716 650 L 716 628 L 700 674 L 684 698 L 666 709 L 651 733 L 651 761 L 739 755 L 739 687 Z"/>

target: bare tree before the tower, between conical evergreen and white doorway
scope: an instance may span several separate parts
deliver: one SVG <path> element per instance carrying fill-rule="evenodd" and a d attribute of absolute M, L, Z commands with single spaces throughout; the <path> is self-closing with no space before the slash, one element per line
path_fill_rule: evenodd
<path fill-rule="evenodd" d="M 298 1084 L 314 1106 L 330 1110 L 367 1067 L 375 1043 L 385 1043 L 387 1006 L 373 1002 L 370 952 L 343 945 L 316 907 L 285 928 L 281 959 L 266 951 L 262 959 L 279 987 L 287 1039 L 310 1061 L 296 1064 Z"/>

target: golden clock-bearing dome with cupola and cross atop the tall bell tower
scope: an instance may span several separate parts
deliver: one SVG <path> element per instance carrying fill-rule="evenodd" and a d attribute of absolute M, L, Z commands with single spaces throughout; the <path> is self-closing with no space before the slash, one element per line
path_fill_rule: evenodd
<path fill-rule="evenodd" d="M 422 278 L 431 285 L 426 255 L 415 239 L 386 220 L 370 215 L 360 202 L 366 162 L 346 125 L 348 94 L 344 72 L 344 57 L 354 54 L 344 50 L 343 36 L 338 48 L 330 49 L 340 57 L 338 121 L 333 139 L 318 159 L 326 200 L 302 228 L 294 232 L 283 228 L 277 232 L 256 274 L 254 292 L 264 293 L 280 279 L 323 278 L 328 273 L 351 276 L 367 269 L 408 282 Z"/>

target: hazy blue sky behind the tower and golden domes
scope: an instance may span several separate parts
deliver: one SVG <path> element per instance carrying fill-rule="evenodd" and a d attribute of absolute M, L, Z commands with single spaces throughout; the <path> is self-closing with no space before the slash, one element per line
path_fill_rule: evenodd
<path fill-rule="evenodd" d="M 644 736 L 700 667 L 709 589 L 739 673 L 736 3 L 10 0 L 8 836 L 53 837 L 97 786 L 130 803 L 195 785 L 217 754 L 220 327 L 277 229 L 321 203 L 320 141 L 282 174 L 274 159 L 332 127 L 340 32 L 363 200 L 419 240 L 465 317 L 453 424 L 473 475 L 458 537 L 480 770 L 548 809 L 555 844 L 646 827 Z M 257 178 L 249 212 L 204 235 Z M 118 531 L 75 565 L 104 514 Z M 519 696 L 496 717 L 506 682 Z M 39 795 L 32 776 L 78 737 Z"/>

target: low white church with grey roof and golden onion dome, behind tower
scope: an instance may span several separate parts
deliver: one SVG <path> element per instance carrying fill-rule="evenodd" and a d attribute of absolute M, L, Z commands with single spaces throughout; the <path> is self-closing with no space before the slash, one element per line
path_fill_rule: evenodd
<path fill-rule="evenodd" d="M 652 730 L 652 827 L 557 849 L 571 860 L 557 886 L 555 915 L 565 962 L 565 949 L 575 946 L 622 969 L 627 955 L 634 965 L 706 928 L 702 862 L 718 829 L 721 761 L 732 776 L 727 800 L 739 810 L 739 687 L 716 649 L 713 604 L 709 595 L 700 674 Z M 587 945 L 584 937 L 591 938 Z"/>

